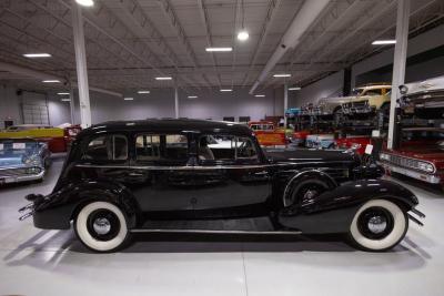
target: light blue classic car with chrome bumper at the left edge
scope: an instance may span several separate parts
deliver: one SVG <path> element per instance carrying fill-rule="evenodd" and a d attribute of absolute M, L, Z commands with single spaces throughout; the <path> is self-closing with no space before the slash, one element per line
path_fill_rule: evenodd
<path fill-rule="evenodd" d="M 50 165 L 50 152 L 46 143 L 33 139 L 0 140 L 0 185 L 41 181 Z"/>

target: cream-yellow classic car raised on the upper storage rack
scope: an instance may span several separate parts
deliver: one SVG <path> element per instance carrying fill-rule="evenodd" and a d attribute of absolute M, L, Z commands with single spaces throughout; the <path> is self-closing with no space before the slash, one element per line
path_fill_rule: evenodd
<path fill-rule="evenodd" d="M 374 84 L 356 88 L 355 95 L 347 96 L 342 104 L 342 112 L 346 115 L 369 114 L 381 109 L 384 112 L 390 108 L 390 91 L 387 84 Z"/>

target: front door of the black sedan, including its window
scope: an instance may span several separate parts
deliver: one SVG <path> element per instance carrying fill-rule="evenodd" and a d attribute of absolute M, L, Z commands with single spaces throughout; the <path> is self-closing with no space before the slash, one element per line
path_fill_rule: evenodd
<path fill-rule="evenodd" d="M 270 166 L 254 137 L 201 134 L 196 146 L 194 210 L 246 208 L 270 197 Z"/>

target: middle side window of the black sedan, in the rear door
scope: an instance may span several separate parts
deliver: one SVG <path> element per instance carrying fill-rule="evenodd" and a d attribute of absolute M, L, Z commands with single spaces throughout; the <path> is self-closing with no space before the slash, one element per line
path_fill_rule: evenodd
<path fill-rule="evenodd" d="M 188 159 L 188 139 L 181 134 L 141 134 L 135 139 L 138 161 Z"/>

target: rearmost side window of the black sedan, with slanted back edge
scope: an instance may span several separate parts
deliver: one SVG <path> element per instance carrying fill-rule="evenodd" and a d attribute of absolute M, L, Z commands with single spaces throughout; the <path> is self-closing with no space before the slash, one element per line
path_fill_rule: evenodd
<path fill-rule="evenodd" d="M 83 160 L 124 161 L 128 159 L 128 141 L 124 135 L 102 135 L 88 143 Z"/>

